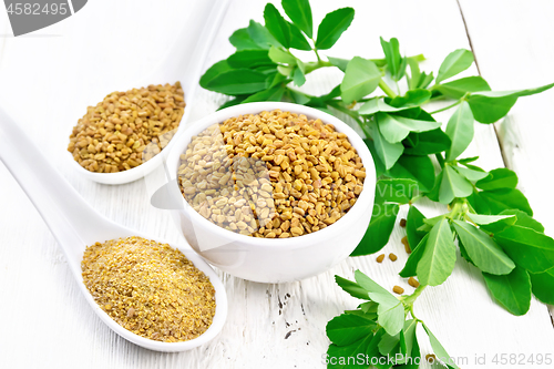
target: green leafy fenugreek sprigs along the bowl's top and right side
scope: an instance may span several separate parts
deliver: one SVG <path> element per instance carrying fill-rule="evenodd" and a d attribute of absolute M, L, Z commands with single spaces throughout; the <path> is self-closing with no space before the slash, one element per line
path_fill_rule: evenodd
<path fill-rule="evenodd" d="M 321 52 L 334 47 L 349 28 L 355 10 L 341 8 L 328 13 L 315 33 L 308 0 L 283 0 L 281 6 L 288 19 L 268 3 L 265 24 L 250 21 L 235 31 L 229 41 L 236 52 L 212 65 L 199 83 L 232 96 L 220 109 L 255 101 L 288 101 L 339 116 L 346 114 L 359 125 L 379 181 L 371 223 L 351 256 L 384 247 L 400 207 L 409 206 L 407 238 L 412 253 L 400 276 L 417 276 L 421 286 L 438 286 L 451 275 L 459 247 L 462 257 L 482 271 L 492 296 L 510 312 L 525 314 L 532 294 L 554 304 L 554 239 L 532 217 L 527 199 L 516 188 L 516 174 L 507 168 L 485 172 L 475 165 L 478 157 L 460 158 L 473 141 L 475 121 L 494 123 L 519 98 L 554 84 L 495 92 L 479 75 L 454 79 L 473 64 L 472 52 L 464 49 L 447 55 L 434 78 L 432 72 L 420 70 L 423 55 L 402 55 L 394 38 L 381 38 L 381 59 L 326 57 Z M 294 50 L 311 51 L 315 60 L 302 61 Z M 294 88 L 304 85 L 307 75 L 321 68 L 342 71 L 341 83 L 320 96 Z M 399 88 L 403 79 L 407 91 Z M 425 104 L 438 100 L 450 104 L 432 112 L 424 110 Z M 449 110 L 453 113 L 443 131 L 433 115 Z M 448 205 L 448 213 L 427 218 L 414 206 L 422 197 Z M 347 291 L 352 294 L 355 288 L 357 297 L 363 295 L 360 298 L 369 301 L 358 312 L 347 311 L 329 322 L 331 328 L 351 327 L 358 334 L 341 341 L 330 332 L 337 330 L 329 331 L 328 326 L 334 342 L 330 352 L 371 351 L 377 357 L 399 350 L 419 355 L 417 341 L 407 337 L 412 337 L 412 329 L 421 324 L 435 353 L 444 357 L 442 346 L 413 316 L 413 301 L 424 287 L 397 299 L 366 278 L 357 274 L 359 290 L 352 285 Z M 347 285 L 339 277 L 337 283 L 342 288 Z M 408 316 L 411 319 L 406 320 Z"/>

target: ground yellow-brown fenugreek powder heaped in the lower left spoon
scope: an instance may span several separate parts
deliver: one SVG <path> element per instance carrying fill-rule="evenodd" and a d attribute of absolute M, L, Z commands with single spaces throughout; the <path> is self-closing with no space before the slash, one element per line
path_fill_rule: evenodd
<path fill-rule="evenodd" d="M 177 249 L 141 237 L 86 247 L 83 281 L 120 326 L 164 342 L 194 339 L 215 315 L 209 278 Z"/>

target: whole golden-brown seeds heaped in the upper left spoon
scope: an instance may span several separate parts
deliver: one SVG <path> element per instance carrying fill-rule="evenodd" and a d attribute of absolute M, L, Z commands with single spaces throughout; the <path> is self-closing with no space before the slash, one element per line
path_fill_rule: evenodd
<path fill-rule="evenodd" d="M 73 127 L 68 151 L 90 172 L 129 171 L 167 145 L 184 107 L 179 82 L 112 92 L 86 109 Z"/>

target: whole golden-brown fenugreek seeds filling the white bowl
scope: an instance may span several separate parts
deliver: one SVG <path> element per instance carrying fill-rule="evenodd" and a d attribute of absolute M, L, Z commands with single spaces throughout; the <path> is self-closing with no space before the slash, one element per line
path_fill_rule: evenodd
<path fill-rule="evenodd" d="M 366 168 L 346 134 L 275 110 L 192 137 L 178 168 L 183 196 L 206 219 L 244 235 L 301 236 L 356 203 Z"/>

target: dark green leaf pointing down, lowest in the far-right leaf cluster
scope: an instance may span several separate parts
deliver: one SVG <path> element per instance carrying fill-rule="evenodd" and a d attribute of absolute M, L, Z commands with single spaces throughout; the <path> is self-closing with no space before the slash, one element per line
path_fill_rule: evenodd
<path fill-rule="evenodd" d="M 531 306 L 531 279 L 529 273 L 517 266 L 505 276 L 483 273 L 486 287 L 500 305 L 513 315 L 525 315 Z"/>

